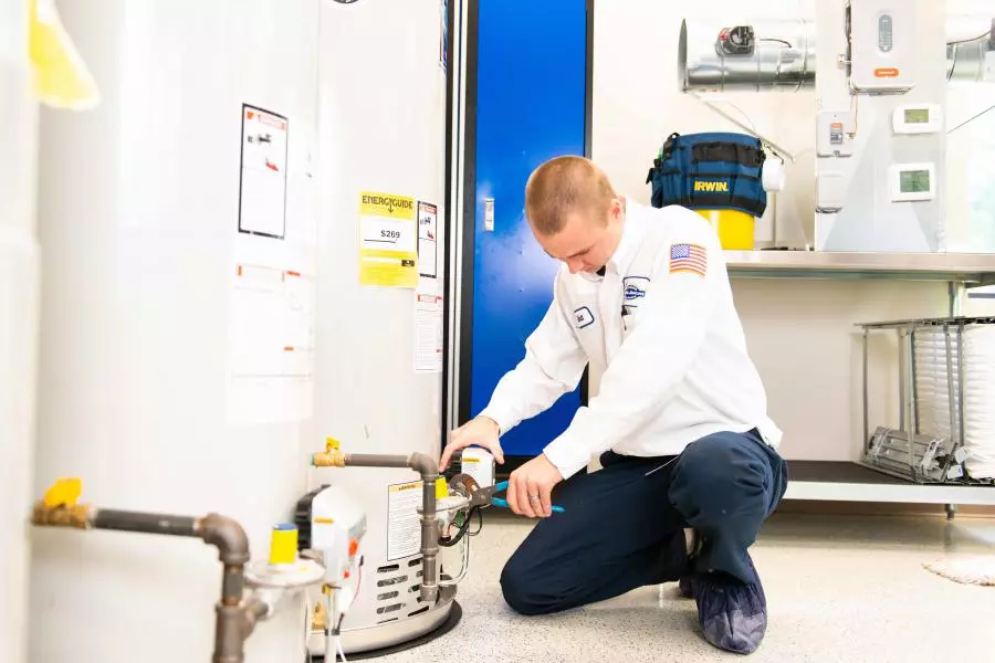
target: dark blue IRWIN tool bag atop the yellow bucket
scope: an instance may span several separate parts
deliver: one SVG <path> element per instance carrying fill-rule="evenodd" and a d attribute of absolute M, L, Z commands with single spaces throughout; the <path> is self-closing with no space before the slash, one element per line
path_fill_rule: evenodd
<path fill-rule="evenodd" d="M 764 159 L 761 141 L 745 134 L 671 134 L 646 179 L 652 185 L 651 204 L 762 217 L 767 209 Z"/>

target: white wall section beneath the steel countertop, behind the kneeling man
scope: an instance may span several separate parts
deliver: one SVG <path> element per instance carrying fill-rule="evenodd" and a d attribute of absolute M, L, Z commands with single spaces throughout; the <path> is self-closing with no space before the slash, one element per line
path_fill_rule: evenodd
<path fill-rule="evenodd" d="M 750 354 L 793 460 L 855 460 L 862 440 L 859 323 L 945 315 L 946 285 L 735 281 Z M 871 346 L 870 425 L 898 424 L 894 344 Z"/>

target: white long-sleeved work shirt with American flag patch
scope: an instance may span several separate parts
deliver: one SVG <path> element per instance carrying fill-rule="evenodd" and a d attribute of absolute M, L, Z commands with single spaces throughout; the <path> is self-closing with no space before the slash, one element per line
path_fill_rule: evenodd
<path fill-rule="evenodd" d="M 609 449 L 677 455 L 721 431 L 757 429 L 776 448 L 715 231 L 682 207 L 626 208 L 605 275 L 561 267 L 524 359 L 481 414 L 504 434 L 576 389 L 589 364 L 597 394 L 544 450 L 564 478 Z"/>

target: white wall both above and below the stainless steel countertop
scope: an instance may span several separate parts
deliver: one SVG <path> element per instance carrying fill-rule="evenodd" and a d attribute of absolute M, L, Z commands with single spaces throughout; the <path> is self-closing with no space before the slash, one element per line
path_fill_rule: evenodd
<path fill-rule="evenodd" d="M 595 3 L 593 156 L 620 192 L 648 202 L 646 173 L 670 133 L 740 130 L 679 92 L 677 45 L 682 18 L 721 14 L 734 23 L 746 18 L 743 4 L 720 0 L 677 10 L 654 0 Z M 815 15 L 814 2 L 753 4 L 753 19 Z M 815 91 L 729 96 L 758 131 L 798 156 L 788 165 L 787 190 L 769 207 L 776 207 L 778 239 L 805 245 L 813 236 Z M 760 246 L 771 240 L 769 215 L 758 227 Z M 861 365 L 855 324 L 947 312 L 941 283 L 742 280 L 733 290 L 790 459 L 852 460 L 859 454 Z M 873 347 L 871 427 L 896 424 L 893 354 L 887 344 Z"/>

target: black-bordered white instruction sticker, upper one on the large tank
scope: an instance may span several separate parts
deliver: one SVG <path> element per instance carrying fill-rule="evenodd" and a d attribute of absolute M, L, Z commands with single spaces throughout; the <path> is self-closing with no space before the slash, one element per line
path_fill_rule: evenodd
<path fill-rule="evenodd" d="M 282 115 L 242 105 L 239 232 L 286 234 L 286 133 Z"/>

